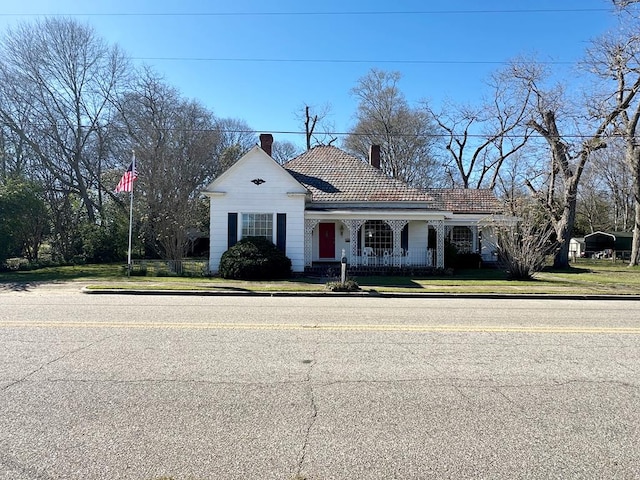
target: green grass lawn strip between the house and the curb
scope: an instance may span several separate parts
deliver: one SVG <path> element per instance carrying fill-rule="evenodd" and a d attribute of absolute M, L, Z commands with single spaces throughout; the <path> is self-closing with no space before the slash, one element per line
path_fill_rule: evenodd
<path fill-rule="evenodd" d="M 76 282 L 88 288 L 324 291 L 328 278 L 274 281 L 238 281 L 208 277 L 132 276 L 122 264 L 47 267 L 33 271 L 0 273 L 0 286 Z M 579 260 L 567 270 L 547 269 L 531 281 L 511 281 L 500 270 L 461 270 L 449 276 L 357 277 L 364 291 L 402 293 L 511 293 L 572 295 L 640 295 L 640 267 L 610 260 Z"/>

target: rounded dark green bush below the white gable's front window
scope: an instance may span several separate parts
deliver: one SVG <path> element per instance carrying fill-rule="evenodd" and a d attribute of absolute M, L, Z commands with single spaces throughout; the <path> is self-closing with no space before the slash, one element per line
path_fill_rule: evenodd
<path fill-rule="evenodd" d="M 222 254 L 219 274 L 236 280 L 291 277 L 291 260 L 263 237 L 245 237 Z"/>

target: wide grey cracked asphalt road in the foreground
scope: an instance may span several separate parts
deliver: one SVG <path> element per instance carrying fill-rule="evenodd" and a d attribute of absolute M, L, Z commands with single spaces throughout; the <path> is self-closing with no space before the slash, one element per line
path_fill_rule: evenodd
<path fill-rule="evenodd" d="M 640 302 L 0 292 L 0 479 L 640 478 Z"/>

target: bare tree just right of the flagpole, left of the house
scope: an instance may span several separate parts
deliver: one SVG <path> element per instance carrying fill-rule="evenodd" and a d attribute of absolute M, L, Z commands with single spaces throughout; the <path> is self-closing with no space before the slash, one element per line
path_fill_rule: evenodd
<path fill-rule="evenodd" d="M 138 159 L 138 208 L 147 245 L 164 258 L 185 255 L 188 231 L 197 227 L 201 188 L 216 173 L 219 136 L 211 112 L 185 100 L 146 70 L 120 104 Z"/>

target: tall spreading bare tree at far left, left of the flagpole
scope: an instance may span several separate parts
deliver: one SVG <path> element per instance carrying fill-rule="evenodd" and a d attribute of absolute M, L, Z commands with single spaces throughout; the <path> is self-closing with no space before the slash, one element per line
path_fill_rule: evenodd
<path fill-rule="evenodd" d="M 117 47 L 65 18 L 20 24 L 0 43 L 0 122 L 28 146 L 51 187 L 77 195 L 89 222 L 101 210 L 93 195 L 102 189 L 98 132 L 111 121 L 127 65 Z"/>

